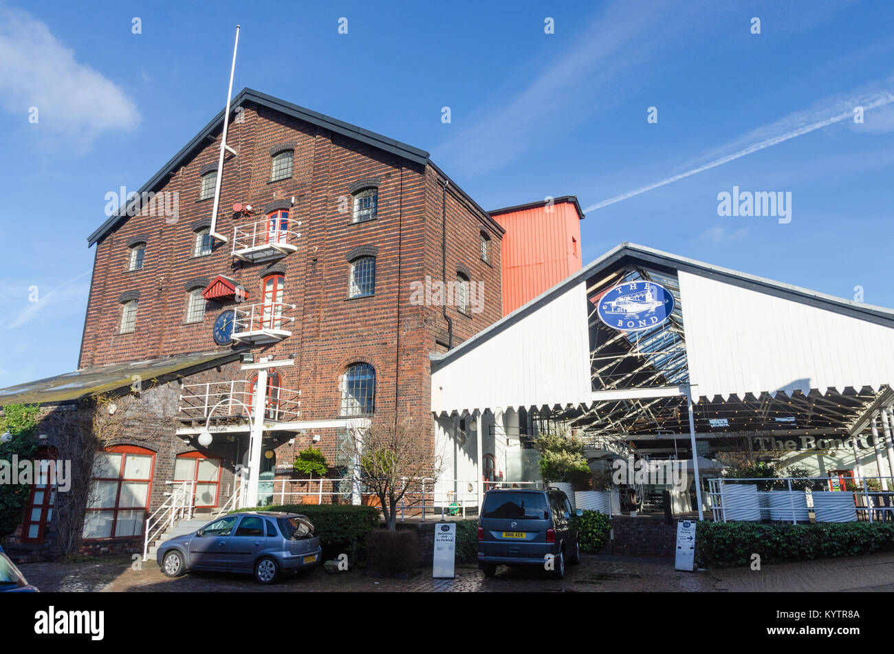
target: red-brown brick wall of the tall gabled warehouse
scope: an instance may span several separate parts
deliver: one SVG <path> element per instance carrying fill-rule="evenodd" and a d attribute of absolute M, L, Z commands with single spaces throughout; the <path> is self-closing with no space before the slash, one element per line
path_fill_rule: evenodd
<path fill-rule="evenodd" d="M 192 256 L 193 229 L 210 217 L 212 199 L 198 200 L 199 172 L 217 160 L 220 141 L 190 157 L 164 185 L 177 192 L 180 212 L 176 222 L 164 215 L 129 218 L 97 244 L 96 265 L 81 348 L 80 365 L 170 356 L 219 348 L 212 338 L 217 314 L 235 306 L 233 298 L 209 302 L 202 323 L 185 323 L 190 280 L 232 277 L 248 290 L 249 303 L 260 301 L 267 263 L 241 262 L 231 254 L 232 243 L 217 243 L 209 256 Z M 271 148 L 294 147 L 292 176 L 271 182 Z M 284 300 L 295 305 L 289 312 L 291 337 L 274 345 L 250 348 L 258 354 L 295 365 L 278 372 L 284 388 L 301 390 L 301 419 L 333 418 L 341 408 L 340 377 L 358 361 L 376 371 L 375 419 L 414 418 L 431 427 L 428 355 L 443 351 L 447 322 L 441 306 L 418 306 L 410 301 L 411 283 L 442 277 L 443 177 L 432 166 L 412 164 L 353 139 L 332 134 L 316 125 L 247 104 L 241 119 L 232 122 L 228 145 L 239 153 L 227 156 L 217 231 L 232 240 L 236 224 L 263 219 L 264 207 L 294 197 L 291 227 L 301 233 L 298 250 L 275 262 L 283 264 Z M 378 217 L 351 222 L 350 185 L 378 180 Z M 484 282 L 480 313 L 462 314 L 447 307 L 452 319 L 453 345 L 498 320 L 502 315 L 500 283 L 501 232 L 491 219 L 461 191 L 446 190 L 446 241 L 448 281 L 456 279 L 458 265 L 473 282 Z M 232 214 L 236 202 L 257 208 L 250 219 Z M 490 260 L 478 256 L 479 233 L 491 237 Z M 128 242 L 147 239 L 145 264 L 127 272 Z M 350 264 L 345 255 L 355 247 L 377 248 L 375 296 L 348 299 Z M 136 331 L 118 334 L 122 293 L 139 292 Z M 245 373 L 232 372 L 231 379 Z M 334 431 L 322 432 L 320 445 L 330 456 Z M 303 440 L 296 439 L 293 449 Z M 278 460 L 282 444 L 277 448 Z M 290 446 L 291 447 L 291 446 Z M 291 451 L 282 451 L 283 457 Z"/>

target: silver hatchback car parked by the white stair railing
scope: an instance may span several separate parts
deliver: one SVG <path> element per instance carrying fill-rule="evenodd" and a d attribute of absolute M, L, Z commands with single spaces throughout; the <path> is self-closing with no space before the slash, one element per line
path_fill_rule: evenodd
<path fill-rule="evenodd" d="M 274 583 L 283 573 L 313 572 L 321 556 L 320 539 L 306 516 L 257 511 L 222 516 L 164 541 L 157 560 L 169 577 L 212 570 L 252 573 L 258 583 Z"/>

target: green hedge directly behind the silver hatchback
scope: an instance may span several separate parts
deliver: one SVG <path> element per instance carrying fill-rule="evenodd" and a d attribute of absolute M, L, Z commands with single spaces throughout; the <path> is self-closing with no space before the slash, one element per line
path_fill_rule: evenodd
<path fill-rule="evenodd" d="M 382 522 L 382 512 L 377 507 L 353 504 L 283 504 L 275 507 L 240 508 L 230 513 L 246 511 L 286 511 L 308 516 L 320 537 L 320 547 L 325 558 L 348 554 L 357 557 L 369 532 Z"/>

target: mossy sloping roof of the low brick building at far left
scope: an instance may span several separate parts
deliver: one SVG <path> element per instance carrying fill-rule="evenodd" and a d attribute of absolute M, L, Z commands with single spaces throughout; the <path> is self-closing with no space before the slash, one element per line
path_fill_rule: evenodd
<path fill-rule="evenodd" d="M 59 404 L 131 386 L 134 375 L 145 381 L 168 381 L 222 365 L 239 358 L 238 352 L 199 352 L 143 361 L 82 368 L 38 381 L 26 381 L 0 389 L 0 406 L 11 404 Z"/>

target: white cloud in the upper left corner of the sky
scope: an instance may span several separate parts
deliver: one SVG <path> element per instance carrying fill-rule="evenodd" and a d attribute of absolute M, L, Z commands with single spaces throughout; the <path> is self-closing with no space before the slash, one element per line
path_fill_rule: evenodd
<path fill-rule="evenodd" d="M 28 121 L 38 108 L 42 135 L 90 147 L 105 131 L 131 130 L 140 116 L 131 98 L 101 73 L 80 63 L 46 23 L 0 5 L 0 102 Z M 72 144 L 73 141 L 73 144 Z"/>

